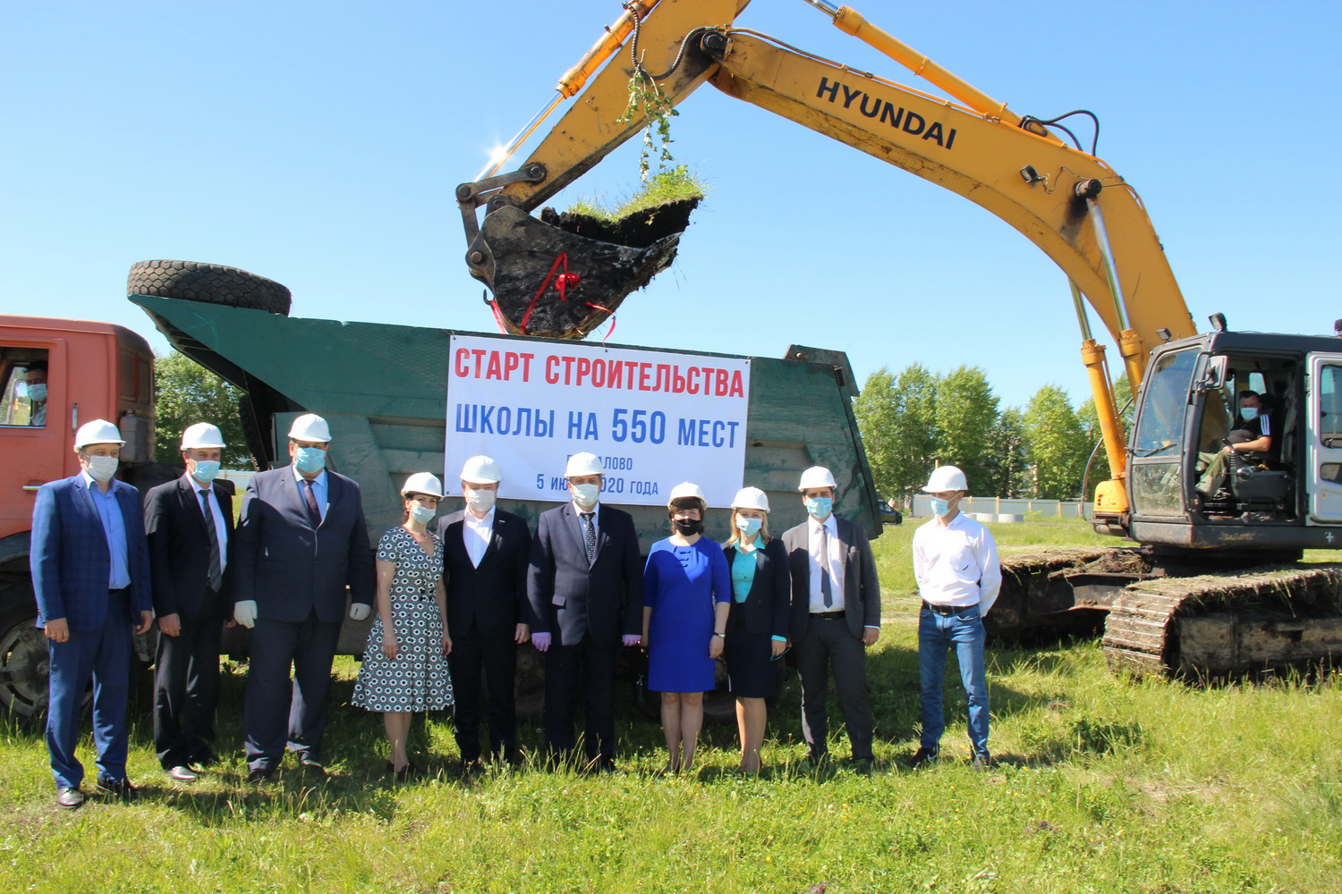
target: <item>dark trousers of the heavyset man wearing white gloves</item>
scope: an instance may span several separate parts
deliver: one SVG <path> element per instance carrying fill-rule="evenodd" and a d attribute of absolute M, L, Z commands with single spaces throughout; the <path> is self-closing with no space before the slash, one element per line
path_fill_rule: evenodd
<path fill-rule="evenodd" d="M 243 706 L 243 748 L 251 769 L 275 769 L 285 747 L 317 760 L 326 732 L 326 692 L 340 622 L 258 618 Z M 289 669 L 294 669 L 290 684 Z"/>

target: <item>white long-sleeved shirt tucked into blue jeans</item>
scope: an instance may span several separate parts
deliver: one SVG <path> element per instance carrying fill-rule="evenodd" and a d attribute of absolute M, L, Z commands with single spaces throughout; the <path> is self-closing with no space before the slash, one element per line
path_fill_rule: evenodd
<path fill-rule="evenodd" d="M 964 512 L 946 524 L 933 517 L 914 532 L 914 578 L 923 602 L 957 609 L 977 604 L 986 615 L 1002 586 L 993 535 Z"/>

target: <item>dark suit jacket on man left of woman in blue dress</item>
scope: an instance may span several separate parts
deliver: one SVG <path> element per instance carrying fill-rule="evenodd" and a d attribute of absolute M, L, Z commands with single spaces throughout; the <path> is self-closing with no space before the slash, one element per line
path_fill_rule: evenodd
<path fill-rule="evenodd" d="M 576 646 L 590 633 L 601 646 L 643 630 L 643 558 L 633 516 L 601 505 L 596 560 L 588 566 L 573 504 L 541 513 L 531 543 L 526 596 L 533 631 L 554 634 L 556 645 Z"/>

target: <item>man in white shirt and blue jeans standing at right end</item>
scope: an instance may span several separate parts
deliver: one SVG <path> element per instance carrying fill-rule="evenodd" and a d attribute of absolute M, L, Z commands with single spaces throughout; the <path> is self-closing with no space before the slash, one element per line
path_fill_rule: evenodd
<path fill-rule="evenodd" d="M 960 512 L 968 493 L 965 473 L 953 465 L 933 470 L 925 492 L 933 519 L 914 532 L 914 578 L 922 596 L 918 613 L 918 676 L 922 684 L 922 740 L 914 765 L 937 757 L 942 717 L 941 690 L 946 651 L 956 650 L 969 697 L 969 741 L 974 769 L 986 769 L 988 674 L 984 670 L 984 615 L 1001 588 L 997 544 L 988 528 Z"/>

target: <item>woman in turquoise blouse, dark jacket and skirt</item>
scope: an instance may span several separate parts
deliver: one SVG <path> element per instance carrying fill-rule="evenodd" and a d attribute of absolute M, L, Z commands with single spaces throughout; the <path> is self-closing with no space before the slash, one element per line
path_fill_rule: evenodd
<path fill-rule="evenodd" d="M 788 650 L 792 575 L 782 540 L 769 536 L 769 497 L 741 488 L 731 501 L 731 537 L 723 546 L 731 570 L 727 614 L 727 685 L 737 697 L 741 769 L 760 771 L 768 716 L 765 698 L 778 692 L 777 658 Z"/>

